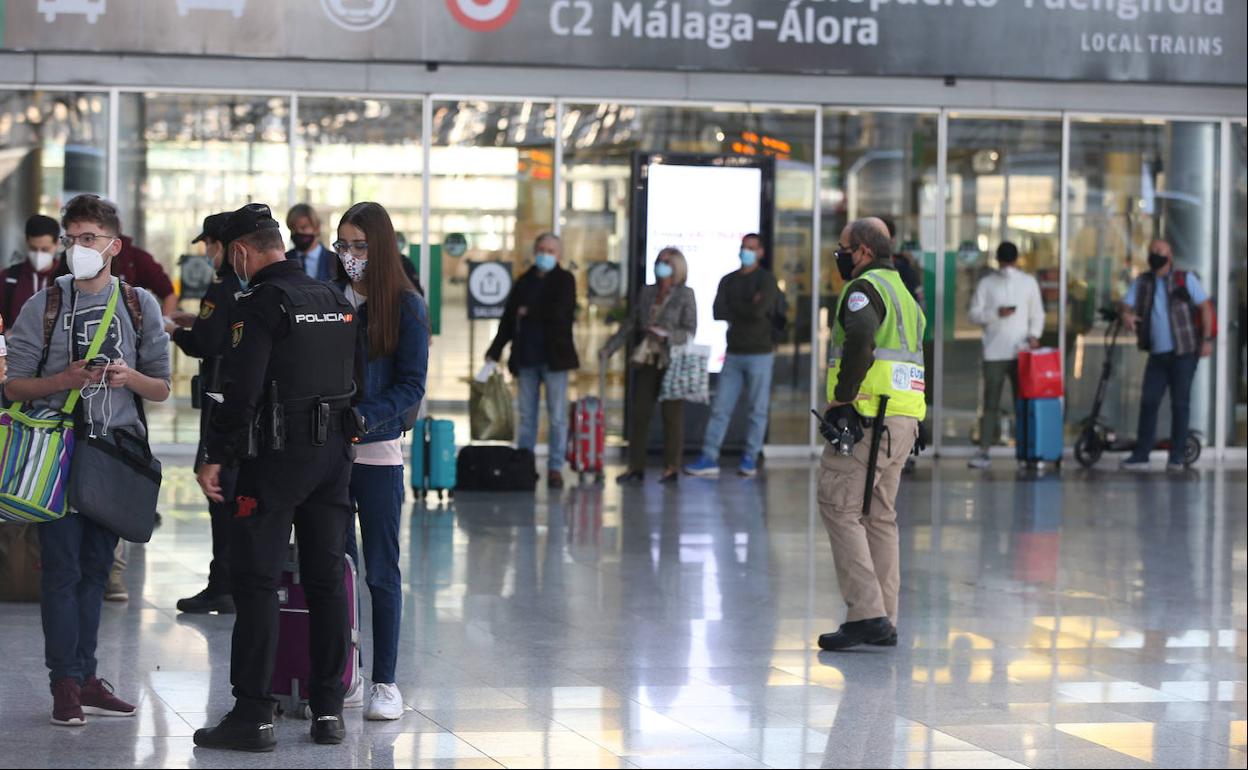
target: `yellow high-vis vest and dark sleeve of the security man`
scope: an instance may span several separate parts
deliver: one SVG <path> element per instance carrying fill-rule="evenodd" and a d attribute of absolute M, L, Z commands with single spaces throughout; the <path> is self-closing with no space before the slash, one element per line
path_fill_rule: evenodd
<path fill-rule="evenodd" d="M 875 333 L 875 361 L 862 378 L 854 408 L 864 417 L 875 417 L 880 396 L 887 396 L 890 417 L 914 417 L 921 421 L 927 414 L 924 312 L 896 271 L 871 270 L 855 281 L 867 281 L 880 293 L 885 316 Z M 847 305 L 851 312 L 859 312 L 869 303 L 870 300 L 862 292 L 841 292 L 834 316 L 832 351 L 827 367 L 829 401 L 836 399 L 836 383 L 844 357 L 845 327 L 841 326 L 841 305 Z"/>

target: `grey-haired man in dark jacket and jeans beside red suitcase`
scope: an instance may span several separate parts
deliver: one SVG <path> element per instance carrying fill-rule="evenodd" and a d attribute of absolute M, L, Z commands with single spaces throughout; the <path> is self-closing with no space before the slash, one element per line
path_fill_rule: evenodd
<path fill-rule="evenodd" d="M 559 266 L 559 236 L 543 232 L 533 242 L 533 267 L 507 297 L 498 336 L 485 352 L 497 362 L 512 346 L 508 368 L 520 383 L 520 431 L 517 446 L 532 451 L 538 443 L 542 386 L 547 391 L 550 422 L 547 485 L 563 488 L 563 458 L 568 443 L 568 372 L 580 367 L 572 324 L 577 316 L 577 277 Z"/>

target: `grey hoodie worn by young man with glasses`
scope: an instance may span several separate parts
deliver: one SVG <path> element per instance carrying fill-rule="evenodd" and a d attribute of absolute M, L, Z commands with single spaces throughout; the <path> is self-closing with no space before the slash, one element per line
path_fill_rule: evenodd
<path fill-rule="evenodd" d="M 52 339 L 49 346 L 47 363 L 44 366 L 42 377 L 52 377 L 69 368 L 70 353 L 70 326 L 77 337 L 77 354 L 74 358 L 86 357 L 86 351 L 91 344 L 91 338 L 100 327 L 109 296 L 114 286 L 109 285 L 97 295 L 89 295 L 74 288 L 72 276 L 61 276 L 56 280 L 61 287 L 61 312 L 60 319 L 52 327 Z M 117 297 L 117 308 L 112 316 L 112 328 L 105 337 L 101 356 L 107 356 L 110 361 L 124 358 L 126 364 L 149 377 L 156 379 L 170 379 L 168 334 L 165 333 L 165 322 L 161 307 L 156 298 L 146 290 L 136 288 L 139 305 L 144 316 L 144 342 L 142 349 L 135 351 L 137 339 L 130 313 L 126 311 L 125 301 Z M 17 314 L 17 321 L 9 329 L 9 378 L 35 377 L 39 368 L 39 359 L 44 354 L 44 308 L 47 307 L 47 291 L 40 291 L 22 306 Z M 59 409 L 65 404 L 69 391 L 54 393 L 49 398 L 39 399 L 31 406 L 35 408 L 46 407 Z M 101 391 L 85 398 L 87 408 L 87 423 L 95 433 L 102 431 L 105 426 L 139 428 L 139 412 L 135 408 L 135 396 L 129 388 L 114 388 L 106 394 Z"/>

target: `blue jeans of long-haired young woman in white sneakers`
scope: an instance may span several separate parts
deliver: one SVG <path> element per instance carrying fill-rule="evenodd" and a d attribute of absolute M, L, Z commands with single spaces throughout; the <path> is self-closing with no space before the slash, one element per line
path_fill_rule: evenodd
<path fill-rule="evenodd" d="M 403 517 L 403 465 L 351 467 L 351 503 L 364 540 L 364 583 L 373 598 L 373 681 L 394 684 L 403 619 L 403 575 L 398 528 Z M 347 554 L 359 564 L 356 523 L 347 529 Z"/>

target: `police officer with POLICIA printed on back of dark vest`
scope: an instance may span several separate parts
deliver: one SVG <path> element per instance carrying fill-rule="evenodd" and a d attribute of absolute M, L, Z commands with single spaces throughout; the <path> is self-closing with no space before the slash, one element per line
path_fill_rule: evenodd
<path fill-rule="evenodd" d="M 197 730 L 195 745 L 276 745 L 270 680 L 292 524 L 310 613 L 312 739 L 338 744 L 351 649 L 343 550 L 351 443 L 358 436 L 351 402 L 363 374 L 358 324 L 338 288 L 286 260 L 268 206 L 231 213 L 222 242 L 245 291 L 231 318 L 225 399 L 212 416 L 198 480 L 210 499 L 222 502 L 222 465 L 240 464 L 230 533 L 235 708 L 216 728 Z"/>

